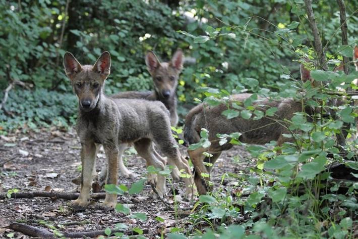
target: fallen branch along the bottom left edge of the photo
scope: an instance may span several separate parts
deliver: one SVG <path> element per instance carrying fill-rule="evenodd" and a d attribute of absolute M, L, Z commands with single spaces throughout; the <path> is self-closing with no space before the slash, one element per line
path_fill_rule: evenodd
<path fill-rule="evenodd" d="M 54 233 L 43 229 L 38 228 L 35 226 L 29 226 L 22 223 L 13 222 L 9 226 L 5 226 L 4 228 L 9 228 L 14 231 L 21 232 L 25 235 L 34 236 L 34 237 L 42 237 L 42 238 L 53 238 Z M 112 233 L 115 232 L 124 232 L 123 230 L 112 230 Z M 67 238 L 82 238 L 86 237 L 96 237 L 98 235 L 106 235 L 104 230 L 97 230 L 97 231 L 83 231 L 83 232 L 58 232 L 61 233 L 63 236 Z M 58 235 L 58 234 L 57 234 Z"/>

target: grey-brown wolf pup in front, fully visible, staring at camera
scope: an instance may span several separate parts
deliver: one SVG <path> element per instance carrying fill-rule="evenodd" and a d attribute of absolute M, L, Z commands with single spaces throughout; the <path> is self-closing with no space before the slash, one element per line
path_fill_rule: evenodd
<path fill-rule="evenodd" d="M 120 148 L 133 143 L 147 165 L 164 169 L 164 164 L 153 152 L 153 143 L 175 164 L 191 175 L 188 163 L 182 158 L 171 135 L 169 114 L 161 102 L 113 99 L 103 93 L 104 81 L 110 73 L 110 55 L 104 52 L 91 65 L 82 66 L 71 53 L 64 56 L 66 75 L 79 99 L 76 130 L 81 142 L 81 193 L 74 205 L 86 206 L 92 183 L 92 171 L 99 145 L 103 145 L 108 160 L 106 183 L 117 184 L 117 165 Z M 149 175 L 148 181 L 156 184 L 160 197 L 165 194 L 165 177 Z M 184 178 L 186 195 L 194 193 L 193 179 Z M 114 207 L 116 195 L 106 194 L 104 206 Z"/>

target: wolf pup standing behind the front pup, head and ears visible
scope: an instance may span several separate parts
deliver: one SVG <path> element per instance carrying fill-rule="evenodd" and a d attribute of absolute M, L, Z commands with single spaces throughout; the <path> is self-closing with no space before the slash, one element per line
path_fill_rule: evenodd
<path fill-rule="evenodd" d="M 178 115 L 176 113 L 176 86 L 179 74 L 183 69 L 183 52 L 181 49 L 176 50 L 169 62 L 160 62 L 153 52 L 148 52 L 145 57 L 145 63 L 148 71 L 152 76 L 154 83 L 153 91 L 125 91 L 112 96 L 115 99 L 145 99 L 149 101 L 160 101 L 169 110 L 170 124 L 176 126 Z M 125 150 L 126 146 L 122 149 Z M 154 150 L 156 153 L 156 151 Z M 157 153 L 156 153 L 157 154 Z M 157 154 L 158 155 L 158 154 Z M 161 158 L 163 159 L 163 158 Z M 164 160 L 164 159 L 163 159 Z M 134 174 L 123 163 L 122 157 L 119 159 L 119 168 L 121 175 L 124 177 L 133 177 Z M 173 168 L 172 177 L 180 180 L 180 173 L 177 168 Z M 103 170 L 100 173 L 100 180 L 103 177 Z"/>

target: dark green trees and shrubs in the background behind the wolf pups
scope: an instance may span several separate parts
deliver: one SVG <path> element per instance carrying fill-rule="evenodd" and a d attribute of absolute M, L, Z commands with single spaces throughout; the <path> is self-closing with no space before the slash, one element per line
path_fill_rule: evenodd
<path fill-rule="evenodd" d="M 72 52 L 81 63 L 93 64 L 103 51 L 112 56 L 108 94 L 152 88 L 144 56 L 153 50 L 168 60 L 180 47 L 187 57 L 177 95 L 192 105 L 198 86 L 232 90 L 257 79 L 260 86 L 279 88 L 282 74 L 299 76 L 296 47 L 311 46 L 303 1 L 0 1 L 0 89 L 9 76 L 27 83 L 16 86 L 0 114 L 2 130 L 36 128 L 74 122 L 76 98 L 63 70 L 63 55 Z M 356 1 L 346 1 L 347 15 Z M 334 6 L 334 7 L 332 7 Z M 340 45 L 336 1 L 314 1 L 323 44 L 333 56 Z M 295 28 L 292 22 L 301 24 Z M 348 20 L 348 41 L 356 40 L 358 18 Z M 295 25 L 295 24 L 293 24 Z M 219 36 L 195 43 L 178 30 Z M 337 32 L 338 29 L 338 32 Z M 7 71 L 10 74 L 7 74 Z M 2 93 L 0 93 L 2 96 Z"/>

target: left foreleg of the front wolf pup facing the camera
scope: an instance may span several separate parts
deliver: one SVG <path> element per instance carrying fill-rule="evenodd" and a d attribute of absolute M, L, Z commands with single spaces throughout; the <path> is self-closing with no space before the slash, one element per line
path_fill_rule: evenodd
<path fill-rule="evenodd" d="M 72 201 L 73 205 L 87 206 L 88 198 L 92 184 L 92 171 L 96 160 L 96 145 L 93 141 L 81 143 L 81 193 L 78 199 Z"/>

